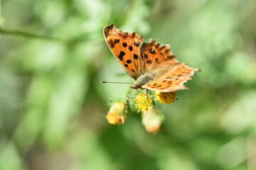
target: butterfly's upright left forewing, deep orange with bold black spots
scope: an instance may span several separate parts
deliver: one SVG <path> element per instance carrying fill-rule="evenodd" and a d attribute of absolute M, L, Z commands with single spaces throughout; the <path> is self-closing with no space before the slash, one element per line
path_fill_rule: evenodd
<path fill-rule="evenodd" d="M 139 49 L 143 38 L 138 33 L 124 33 L 113 24 L 104 28 L 105 40 L 108 47 L 124 71 L 137 79 L 144 69 Z"/>

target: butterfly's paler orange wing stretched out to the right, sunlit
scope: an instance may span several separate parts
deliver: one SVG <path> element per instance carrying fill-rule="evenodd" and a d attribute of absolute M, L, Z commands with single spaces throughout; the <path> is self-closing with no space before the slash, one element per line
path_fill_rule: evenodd
<path fill-rule="evenodd" d="M 184 63 L 175 64 L 174 68 L 170 69 L 169 72 L 166 72 L 154 81 L 150 81 L 148 84 L 144 84 L 142 88 L 162 92 L 188 89 L 183 84 L 192 79 L 191 76 L 195 74 L 195 71 L 200 71 L 200 69 L 188 67 Z"/>

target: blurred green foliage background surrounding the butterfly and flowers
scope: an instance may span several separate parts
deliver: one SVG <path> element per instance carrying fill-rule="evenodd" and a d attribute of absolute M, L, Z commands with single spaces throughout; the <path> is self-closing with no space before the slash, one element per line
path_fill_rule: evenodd
<path fill-rule="evenodd" d="M 1 0 L 0 169 L 256 169 L 255 0 Z M 129 81 L 102 29 L 171 44 L 198 67 L 189 91 L 110 125 Z M 38 36 L 40 35 L 40 36 Z"/>

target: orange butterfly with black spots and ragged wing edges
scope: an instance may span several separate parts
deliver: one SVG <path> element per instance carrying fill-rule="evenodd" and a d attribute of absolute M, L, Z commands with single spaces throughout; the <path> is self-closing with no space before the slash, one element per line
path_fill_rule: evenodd
<path fill-rule="evenodd" d="M 183 84 L 200 71 L 178 62 L 170 45 L 160 45 L 152 39 L 143 42 L 142 35 L 122 32 L 114 24 L 105 26 L 103 33 L 114 57 L 135 80 L 131 89 L 161 92 L 188 89 Z"/>

